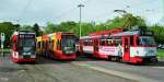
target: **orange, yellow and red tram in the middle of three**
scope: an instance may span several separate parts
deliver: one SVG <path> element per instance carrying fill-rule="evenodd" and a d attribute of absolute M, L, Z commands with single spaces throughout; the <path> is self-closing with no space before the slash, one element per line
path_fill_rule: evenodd
<path fill-rule="evenodd" d="M 74 60 L 77 36 L 73 33 L 52 33 L 37 37 L 37 55 L 59 60 Z"/>

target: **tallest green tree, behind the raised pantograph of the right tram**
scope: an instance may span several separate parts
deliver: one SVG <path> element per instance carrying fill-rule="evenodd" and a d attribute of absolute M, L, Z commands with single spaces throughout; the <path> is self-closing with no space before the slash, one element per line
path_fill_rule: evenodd
<path fill-rule="evenodd" d="M 133 27 L 140 28 L 145 26 L 145 21 L 140 16 L 134 16 L 131 13 L 124 14 L 121 17 L 116 16 L 114 20 L 109 20 L 105 23 L 107 30 L 124 28 L 133 30 Z"/>

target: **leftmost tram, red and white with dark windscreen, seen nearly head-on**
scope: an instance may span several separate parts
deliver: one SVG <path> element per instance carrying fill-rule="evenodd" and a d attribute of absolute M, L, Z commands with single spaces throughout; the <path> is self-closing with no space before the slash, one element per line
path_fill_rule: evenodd
<path fill-rule="evenodd" d="M 32 61 L 35 62 L 35 38 L 34 32 L 19 31 L 12 35 L 12 61 L 23 62 Z"/>

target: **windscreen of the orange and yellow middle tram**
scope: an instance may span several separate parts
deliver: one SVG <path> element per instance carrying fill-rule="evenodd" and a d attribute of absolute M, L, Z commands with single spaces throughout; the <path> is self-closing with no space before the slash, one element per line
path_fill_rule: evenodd
<path fill-rule="evenodd" d="M 77 37 L 73 35 L 62 35 L 61 47 L 65 54 L 75 52 Z"/>

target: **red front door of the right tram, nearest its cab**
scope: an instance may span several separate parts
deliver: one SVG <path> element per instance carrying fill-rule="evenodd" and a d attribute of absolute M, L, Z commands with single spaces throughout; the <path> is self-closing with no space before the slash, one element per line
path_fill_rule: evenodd
<path fill-rule="evenodd" d="M 124 61 L 130 61 L 130 37 L 124 37 Z"/>

